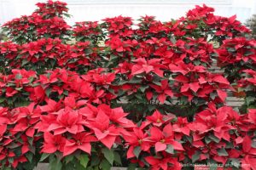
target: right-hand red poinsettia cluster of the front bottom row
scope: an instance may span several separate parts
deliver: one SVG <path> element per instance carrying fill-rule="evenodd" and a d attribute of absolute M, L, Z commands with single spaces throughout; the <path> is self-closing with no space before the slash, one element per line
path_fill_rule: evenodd
<path fill-rule="evenodd" d="M 154 112 L 143 122 L 144 126 L 125 135 L 130 146 L 127 158 L 144 156 L 152 169 L 182 169 L 180 162 L 186 162 L 186 156 L 193 162 L 211 159 L 223 165 L 240 160 L 255 168 L 256 150 L 251 146 L 254 136 L 249 136 L 255 130 L 254 109 L 247 115 L 239 115 L 230 107 L 216 109 L 210 103 L 207 110 L 195 116 L 194 122 L 178 117 L 170 123 L 170 119 L 163 121 L 160 116 Z M 157 124 L 151 122 L 153 117 Z"/>

